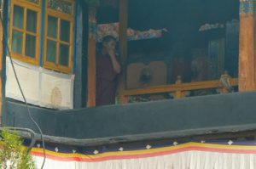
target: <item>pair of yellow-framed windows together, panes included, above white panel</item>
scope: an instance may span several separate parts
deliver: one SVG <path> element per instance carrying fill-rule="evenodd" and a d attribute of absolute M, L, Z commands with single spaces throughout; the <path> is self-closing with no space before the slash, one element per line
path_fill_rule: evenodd
<path fill-rule="evenodd" d="M 45 17 L 41 18 L 45 5 Z M 71 73 L 73 66 L 74 0 L 12 0 L 10 48 L 15 59 Z M 41 29 L 41 23 L 44 27 Z M 44 39 L 40 39 L 44 34 Z M 40 41 L 44 40 L 44 41 Z M 40 44 L 44 42 L 44 45 Z M 44 48 L 40 48 L 44 46 Z"/>

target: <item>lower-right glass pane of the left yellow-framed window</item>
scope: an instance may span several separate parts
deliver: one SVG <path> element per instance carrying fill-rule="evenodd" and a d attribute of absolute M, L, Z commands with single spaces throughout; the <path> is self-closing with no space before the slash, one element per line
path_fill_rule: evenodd
<path fill-rule="evenodd" d="M 26 35 L 26 56 L 35 58 L 36 56 L 36 37 Z"/>

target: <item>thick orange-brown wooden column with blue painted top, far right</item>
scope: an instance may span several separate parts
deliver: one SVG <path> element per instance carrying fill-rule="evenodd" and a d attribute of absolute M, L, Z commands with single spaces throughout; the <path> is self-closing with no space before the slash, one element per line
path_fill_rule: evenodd
<path fill-rule="evenodd" d="M 256 89 L 256 2 L 240 1 L 239 91 Z"/>

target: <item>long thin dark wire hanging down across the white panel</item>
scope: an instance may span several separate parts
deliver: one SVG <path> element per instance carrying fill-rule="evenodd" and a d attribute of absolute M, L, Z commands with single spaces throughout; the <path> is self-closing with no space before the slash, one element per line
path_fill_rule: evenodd
<path fill-rule="evenodd" d="M 3 18 L 2 18 L 2 14 L 0 14 L 0 20 L 1 20 L 1 23 L 2 23 L 2 26 L 3 26 Z M 4 27 L 4 26 L 3 26 Z M 15 65 L 13 63 L 13 59 L 12 59 L 12 56 L 11 56 L 11 53 L 10 53 L 10 50 L 9 50 L 9 45 L 8 45 L 8 41 L 7 41 L 7 37 L 5 36 L 5 31 L 3 31 L 3 44 L 5 44 L 6 48 L 7 48 L 7 51 L 8 51 L 8 54 L 9 54 L 9 59 L 10 59 L 10 62 L 11 62 L 11 65 L 12 65 L 12 68 L 14 70 L 14 73 L 15 73 L 15 79 L 16 79 L 16 82 L 18 83 L 18 86 L 19 86 L 19 89 L 20 89 L 20 93 L 22 95 L 22 98 L 24 99 L 24 102 L 26 104 L 26 110 L 28 112 L 28 115 L 29 115 L 29 118 L 31 119 L 31 121 L 36 125 L 36 127 L 38 127 L 38 131 L 40 132 L 40 135 L 41 135 L 41 140 L 42 140 L 42 145 L 43 145 L 43 149 L 44 149 L 44 161 L 43 161 L 43 164 L 41 166 L 41 169 L 44 168 L 44 163 L 45 163 L 45 159 L 46 159 L 46 154 L 45 154 L 45 146 L 44 146 L 44 135 L 43 135 L 43 132 L 41 130 L 41 128 L 38 126 L 38 123 L 33 119 L 32 117 L 32 113 L 28 107 L 28 104 L 27 104 L 27 101 L 26 101 L 26 97 L 23 93 L 23 90 L 20 86 L 20 81 L 19 81 L 19 78 L 17 76 L 17 73 L 16 73 L 16 70 L 15 70 Z"/>

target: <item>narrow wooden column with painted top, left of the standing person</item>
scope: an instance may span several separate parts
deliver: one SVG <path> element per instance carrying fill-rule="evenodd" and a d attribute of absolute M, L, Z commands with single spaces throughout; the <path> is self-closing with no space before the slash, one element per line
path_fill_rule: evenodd
<path fill-rule="evenodd" d="M 96 8 L 89 8 L 88 38 L 88 101 L 87 106 L 96 105 Z"/>

